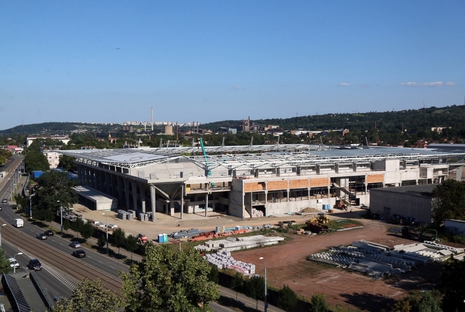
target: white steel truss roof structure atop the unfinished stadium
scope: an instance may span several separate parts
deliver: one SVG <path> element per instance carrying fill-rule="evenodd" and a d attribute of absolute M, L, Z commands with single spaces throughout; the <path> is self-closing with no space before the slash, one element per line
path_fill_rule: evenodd
<path fill-rule="evenodd" d="M 442 153 L 430 149 L 281 144 L 205 147 L 207 156 L 196 147 L 130 148 L 107 150 L 63 150 L 78 161 L 137 169 L 157 163 L 193 162 L 205 170 L 257 169 L 318 164 L 373 162 L 383 159 L 421 160 L 464 157 L 465 152 Z M 195 155 L 197 154 L 197 155 Z"/>

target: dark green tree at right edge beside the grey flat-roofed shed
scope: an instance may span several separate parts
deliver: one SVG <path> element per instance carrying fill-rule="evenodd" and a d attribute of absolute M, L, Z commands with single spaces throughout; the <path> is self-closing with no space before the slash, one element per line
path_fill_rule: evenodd
<path fill-rule="evenodd" d="M 431 193 L 433 215 L 439 225 L 445 219 L 465 220 L 465 181 L 444 180 Z"/>

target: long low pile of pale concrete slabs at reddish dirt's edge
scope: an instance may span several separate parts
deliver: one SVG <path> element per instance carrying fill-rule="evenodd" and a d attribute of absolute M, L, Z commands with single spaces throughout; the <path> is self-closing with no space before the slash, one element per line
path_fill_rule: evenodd
<path fill-rule="evenodd" d="M 284 238 L 280 236 L 263 236 L 254 235 L 246 237 L 228 237 L 224 240 L 208 241 L 204 245 L 197 245 L 194 248 L 204 251 L 233 251 L 247 248 L 254 248 L 258 246 L 275 245 Z"/>

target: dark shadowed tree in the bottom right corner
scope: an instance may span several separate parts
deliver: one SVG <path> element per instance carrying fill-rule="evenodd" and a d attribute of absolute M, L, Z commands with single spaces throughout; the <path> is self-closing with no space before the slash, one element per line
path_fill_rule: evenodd
<path fill-rule="evenodd" d="M 441 270 L 439 290 L 444 293 L 444 311 L 465 311 L 465 261 L 447 262 Z"/>

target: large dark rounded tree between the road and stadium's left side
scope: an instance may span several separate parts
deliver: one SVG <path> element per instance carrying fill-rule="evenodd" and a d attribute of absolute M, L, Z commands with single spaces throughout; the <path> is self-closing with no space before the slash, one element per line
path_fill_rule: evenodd
<path fill-rule="evenodd" d="M 33 188 L 32 216 L 50 222 L 60 207 L 72 207 L 77 202 L 76 191 L 72 188 L 76 181 L 68 179 L 64 172 L 50 171 L 42 174 Z M 60 201 L 60 202 L 57 202 Z"/>

